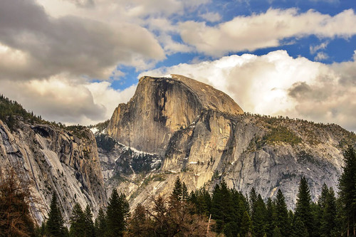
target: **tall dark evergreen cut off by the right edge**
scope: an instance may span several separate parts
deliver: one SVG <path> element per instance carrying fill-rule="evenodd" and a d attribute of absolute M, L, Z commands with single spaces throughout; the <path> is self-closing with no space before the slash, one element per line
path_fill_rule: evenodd
<path fill-rule="evenodd" d="M 347 236 L 356 236 L 356 154 L 349 147 L 344 154 L 345 167 L 339 181 L 339 198 L 341 202 L 342 222 L 345 223 Z"/>

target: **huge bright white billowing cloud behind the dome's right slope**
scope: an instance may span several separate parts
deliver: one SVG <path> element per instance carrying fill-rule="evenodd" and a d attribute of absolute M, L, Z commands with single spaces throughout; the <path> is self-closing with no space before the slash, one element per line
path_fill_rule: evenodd
<path fill-rule="evenodd" d="M 337 123 L 356 130 L 356 63 L 325 65 L 286 51 L 182 63 L 142 75 L 187 75 L 231 96 L 246 112 Z"/>

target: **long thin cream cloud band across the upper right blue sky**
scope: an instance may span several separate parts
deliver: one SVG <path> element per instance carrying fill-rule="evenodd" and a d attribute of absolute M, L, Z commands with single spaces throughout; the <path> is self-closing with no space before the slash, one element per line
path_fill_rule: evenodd
<path fill-rule="evenodd" d="M 356 34 L 356 15 L 352 9 L 330 16 L 309 10 L 268 9 L 265 13 L 237 16 L 216 26 L 205 22 L 180 23 L 185 43 L 210 56 L 223 56 L 231 51 L 253 51 L 276 47 L 286 38 L 315 35 L 320 38 L 349 38 Z"/>

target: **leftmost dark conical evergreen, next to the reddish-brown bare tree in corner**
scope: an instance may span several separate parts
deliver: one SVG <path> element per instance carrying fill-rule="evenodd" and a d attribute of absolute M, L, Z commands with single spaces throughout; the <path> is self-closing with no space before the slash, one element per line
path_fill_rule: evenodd
<path fill-rule="evenodd" d="M 59 207 L 57 196 L 53 193 L 50 211 L 48 214 L 48 221 L 46 222 L 46 233 L 49 236 L 66 236 L 66 228 Z"/>

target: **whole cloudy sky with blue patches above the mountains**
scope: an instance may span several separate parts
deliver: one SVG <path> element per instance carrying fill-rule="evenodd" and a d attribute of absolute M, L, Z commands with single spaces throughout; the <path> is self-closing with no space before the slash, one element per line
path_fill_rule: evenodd
<path fill-rule="evenodd" d="M 0 93 L 95 124 L 142 75 L 177 73 L 244 111 L 356 131 L 355 0 L 1 0 Z"/>

